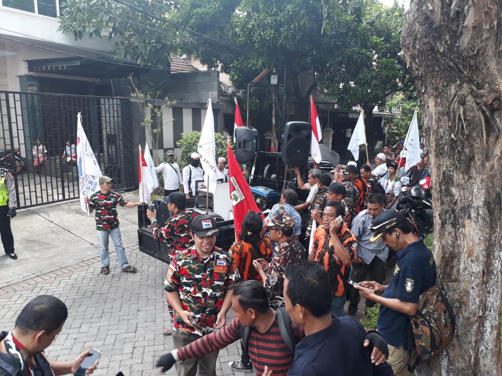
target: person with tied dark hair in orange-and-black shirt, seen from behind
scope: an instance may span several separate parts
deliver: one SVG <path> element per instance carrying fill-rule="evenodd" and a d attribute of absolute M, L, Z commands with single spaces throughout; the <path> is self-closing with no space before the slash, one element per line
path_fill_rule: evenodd
<path fill-rule="evenodd" d="M 242 221 L 239 234 L 240 241 L 230 248 L 235 267 L 242 281 L 256 279 L 263 283 L 260 274 L 253 266 L 253 261 L 272 258 L 272 243 L 269 238 L 261 235 L 263 220 L 260 213 L 249 211 Z"/>

